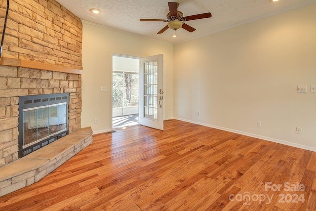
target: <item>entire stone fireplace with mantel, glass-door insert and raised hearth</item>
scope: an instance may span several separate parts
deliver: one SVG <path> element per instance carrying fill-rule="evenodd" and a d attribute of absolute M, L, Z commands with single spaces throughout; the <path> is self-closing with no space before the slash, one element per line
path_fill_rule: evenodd
<path fill-rule="evenodd" d="M 6 6 L 0 0 L 1 33 Z M 91 128 L 80 123 L 80 19 L 55 0 L 10 0 L 3 43 L 0 196 L 39 181 L 92 142 Z M 57 102 L 65 96 L 66 105 Z M 31 101 L 43 104 L 32 109 Z"/>

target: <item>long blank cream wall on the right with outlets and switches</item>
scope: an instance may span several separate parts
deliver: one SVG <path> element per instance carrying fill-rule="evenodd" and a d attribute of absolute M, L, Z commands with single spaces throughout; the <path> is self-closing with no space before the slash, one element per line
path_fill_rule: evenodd
<path fill-rule="evenodd" d="M 177 44 L 173 55 L 174 117 L 316 150 L 316 4 Z"/>

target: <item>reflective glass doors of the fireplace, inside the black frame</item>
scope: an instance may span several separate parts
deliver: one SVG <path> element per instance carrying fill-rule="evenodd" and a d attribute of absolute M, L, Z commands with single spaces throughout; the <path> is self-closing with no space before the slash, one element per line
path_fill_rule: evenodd
<path fill-rule="evenodd" d="M 66 130 L 66 102 L 23 109 L 23 148 Z"/>

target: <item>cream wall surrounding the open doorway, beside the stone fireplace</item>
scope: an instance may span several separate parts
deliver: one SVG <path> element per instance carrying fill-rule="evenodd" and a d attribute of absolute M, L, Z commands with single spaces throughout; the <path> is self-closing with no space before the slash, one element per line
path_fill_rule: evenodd
<path fill-rule="evenodd" d="M 81 127 L 97 132 L 110 130 L 112 53 L 136 57 L 163 54 L 165 62 L 165 118 L 173 116 L 173 46 L 83 22 Z M 107 86 L 107 92 L 100 87 Z M 170 108 L 170 112 L 168 109 Z M 99 123 L 94 124 L 98 118 Z"/>

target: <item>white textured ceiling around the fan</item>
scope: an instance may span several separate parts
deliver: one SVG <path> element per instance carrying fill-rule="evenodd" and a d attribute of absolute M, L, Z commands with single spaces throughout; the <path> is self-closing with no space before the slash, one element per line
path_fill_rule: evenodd
<path fill-rule="evenodd" d="M 178 37 L 172 38 L 174 31 L 168 29 L 157 34 L 165 22 L 140 22 L 139 19 L 166 19 L 171 0 L 57 0 L 81 20 L 97 23 L 108 28 L 118 29 L 156 39 L 163 42 L 184 42 L 205 36 L 245 22 L 264 18 L 299 6 L 316 3 L 316 0 L 175 0 L 178 10 L 184 16 L 211 12 L 211 18 L 192 20 L 186 24 L 197 30 L 190 33 L 184 29 L 176 31 Z M 93 14 L 91 8 L 102 12 Z"/>

